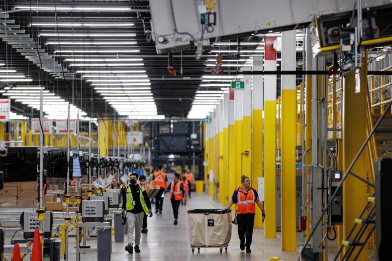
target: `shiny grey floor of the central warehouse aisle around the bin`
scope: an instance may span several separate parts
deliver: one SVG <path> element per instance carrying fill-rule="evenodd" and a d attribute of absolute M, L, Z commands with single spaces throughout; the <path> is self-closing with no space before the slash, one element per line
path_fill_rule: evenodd
<path fill-rule="evenodd" d="M 153 210 L 154 210 L 153 205 Z M 129 254 L 125 251 L 126 238 L 123 243 L 112 245 L 112 260 L 269 260 L 271 256 L 281 257 L 284 261 L 297 260 L 297 252 L 280 251 L 280 233 L 277 239 L 264 239 L 261 229 L 253 233 L 252 253 L 239 249 L 237 226 L 233 225 L 232 238 L 228 251 L 220 253 L 219 248 L 200 249 L 200 253 L 191 252 L 188 241 L 186 210 L 195 208 L 222 208 L 204 193 L 194 193 L 186 206 L 180 206 L 178 225 L 173 225 L 172 209 L 168 195 L 165 196 L 163 214 L 155 214 L 148 220 L 148 234 L 142 234 L 141 253 Z M 298 238 L 298 241 L 301 237 Z M 113 240 L 114 241 L 114 240 Z M 73 244 L 74 240 L 70 238 Z M 69 260 L 74 260 L 75 249 L 69 248 Z M 81 260 L 96 260 L 96 254 L 82 254 Z"/>

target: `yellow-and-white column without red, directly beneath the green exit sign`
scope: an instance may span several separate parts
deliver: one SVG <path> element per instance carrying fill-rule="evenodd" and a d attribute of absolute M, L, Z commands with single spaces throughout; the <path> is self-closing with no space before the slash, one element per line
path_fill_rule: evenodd
<path fill-rule="evenodd" d="M 236 174 L 235 174 L 235 183 L 236 186 L 239 187 L 241 185 L 241 176 L 243 174 L 243 161 L 241 161 L 242 157 L 242 96 L 243 93 L 241 90 L 235 91 L 234 96 L 234 117 L 235 117 L 235 160 L 236 160 Z"/>

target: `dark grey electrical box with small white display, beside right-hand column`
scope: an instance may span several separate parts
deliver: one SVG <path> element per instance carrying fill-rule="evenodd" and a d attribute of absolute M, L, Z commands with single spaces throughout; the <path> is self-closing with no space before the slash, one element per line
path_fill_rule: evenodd
<path fill-rule="evenodd" d="M 343 224 L 343 187 L 338 188 L 340 181 L 342 180 L 343 172 L 339 170 L 332 170 L 330 172 L 331 178 L 331 196 L 336 193 L 335 197 L 331 198 L 331 224 L 341 225 Z"/>

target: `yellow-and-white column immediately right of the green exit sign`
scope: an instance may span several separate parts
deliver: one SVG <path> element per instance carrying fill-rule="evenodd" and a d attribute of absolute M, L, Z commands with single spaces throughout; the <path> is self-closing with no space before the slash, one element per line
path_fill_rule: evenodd
<path fill-rule="evenodd" d="M 244 67 L 243 71 L 251 71 L 250 67 Z M 242 174 L 252 178 L 252 75 L 243 76 L 245 89 L 242 91 Z"/>

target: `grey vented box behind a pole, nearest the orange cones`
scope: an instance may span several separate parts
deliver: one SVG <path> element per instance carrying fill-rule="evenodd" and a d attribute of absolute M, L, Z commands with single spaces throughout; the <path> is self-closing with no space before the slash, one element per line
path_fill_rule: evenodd
<path fill-rule="evenodd" d="M 53 214 L 52 211 L 46 211 L 44 215 L 45 238 L 50 238 L 52 237 Z M 40 227 L 40 222 L 37 218 L 38 214 L 35 211 L 22 212 L 20 224 L 23 227 L 23 238 L 34 238 L 35 229 Z"/>

